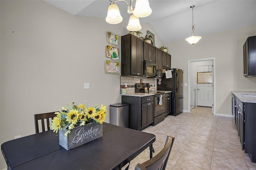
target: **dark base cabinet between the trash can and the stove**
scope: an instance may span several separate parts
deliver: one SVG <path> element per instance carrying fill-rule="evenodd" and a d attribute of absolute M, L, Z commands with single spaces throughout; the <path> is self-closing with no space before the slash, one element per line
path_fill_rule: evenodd
<path fill-rule="evenodd" d="M 154 96 L 122 96 L 122 103 L 129 103 L 129 128 L 143 130 L 154 121 Z"/>

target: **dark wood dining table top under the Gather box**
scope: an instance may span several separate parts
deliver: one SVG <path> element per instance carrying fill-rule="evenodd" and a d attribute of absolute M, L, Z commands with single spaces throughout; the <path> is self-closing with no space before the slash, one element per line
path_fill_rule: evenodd
<path fill-rule="evenodd" d="M 46 132 L 10 140 L 1 145 L 13 170 L 120 169 L 156 140 L 154 134 L 103 123 L 103 136 L 66 150 L 58 134 Z"/>

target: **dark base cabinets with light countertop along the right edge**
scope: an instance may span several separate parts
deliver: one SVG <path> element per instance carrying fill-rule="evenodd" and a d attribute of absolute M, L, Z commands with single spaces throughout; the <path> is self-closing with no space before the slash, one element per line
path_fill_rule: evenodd
<path fill-rule="evenodd" d="M 248 97 L 246 95 L 255 96 Z M 232 114 L 242 149 L 256 163 L 256 92 L 232 91 Z"/>

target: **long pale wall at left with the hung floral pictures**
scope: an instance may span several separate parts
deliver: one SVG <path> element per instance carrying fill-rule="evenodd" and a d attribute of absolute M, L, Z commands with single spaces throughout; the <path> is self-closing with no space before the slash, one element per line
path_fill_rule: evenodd
<path fill-rule="evenodd" d="M 104 104 L 108 111 L 121 102 L 120 75 L 105 71 L 106 34 L 117 34 L 121 42 L 128 21 L 111 25 L 104 18 L 72 16 L 43 1 L 0 4 L 1 144 L 34 134 L 34 114 L 58 111 L 72 101 Z M 156 46 L 162 45 L 150 24 L 141 25 L 144 36 L 150 30 Z M 0 164 L 6 167 L 2 154 Z"/>

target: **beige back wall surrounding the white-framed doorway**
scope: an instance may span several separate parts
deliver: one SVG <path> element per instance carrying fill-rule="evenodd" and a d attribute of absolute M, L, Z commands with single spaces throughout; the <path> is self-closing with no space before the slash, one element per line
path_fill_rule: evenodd
<path fill-rule="evenodd" d="M 199 33 L 198 33 L 199 34 Z M 256 91 L 256 77 L 244 77 L 243 44 L 256 35 L 256 26 L 231 30 L 209 36 L 195 45 L 185 40 L 168 43 L 172 55 L 172 68 L 184 70 L 184 83 L 188 83 L 188 60 L 216 59 L 216 114 L 231 113 L 231 91 Z M 184 38 L 185 39 L 185 38 Z M 188 87 L 184 87 L 184 110 L 188 110 Z"/>

